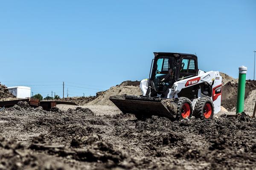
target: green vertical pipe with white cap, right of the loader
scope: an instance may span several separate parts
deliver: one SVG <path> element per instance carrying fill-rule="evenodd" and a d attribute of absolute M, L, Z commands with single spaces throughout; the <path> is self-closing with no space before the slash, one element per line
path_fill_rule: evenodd
<path fill-rule="evenodd" d="M 245 93 L 246 72 L 247 72 L 247 67 L 244 67 L 243 65 L 241 67 L 239 67 L 236 114 L 244 111 L 244 93 Z"/>

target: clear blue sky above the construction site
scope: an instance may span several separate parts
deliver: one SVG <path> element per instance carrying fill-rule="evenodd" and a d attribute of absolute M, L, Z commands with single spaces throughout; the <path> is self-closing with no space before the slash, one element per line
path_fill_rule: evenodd
<path fill-rule="evenodd" d="M 197 54 L 199 68 L 253 79 L 255 0 L 0 1 L 0 82 L 95 95 L 148 77 L 154 51 Z"/>

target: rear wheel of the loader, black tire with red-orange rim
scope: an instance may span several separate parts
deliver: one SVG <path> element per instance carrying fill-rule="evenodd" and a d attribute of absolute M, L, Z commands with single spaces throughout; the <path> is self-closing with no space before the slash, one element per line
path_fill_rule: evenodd
<path fill-rule="evenodd" d="M 208 109 L 209 107 L 211 107 L 210 110 Z M 214 114 L 212 101 L 206 97 L 198 99 L 198 101 L 195 103 L 193 114 L 195 118 L 212 119 Z"/>

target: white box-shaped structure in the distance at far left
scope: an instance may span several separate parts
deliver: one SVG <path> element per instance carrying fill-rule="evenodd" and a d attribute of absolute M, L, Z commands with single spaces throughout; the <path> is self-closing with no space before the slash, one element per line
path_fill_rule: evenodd
<path fill-rule="evenodd" d="M 10 93 L 12 93 L 17 98 L 27 98 L 30 97 L 31 88 L 25 86 L 16 86 L 7 88 Z"/>

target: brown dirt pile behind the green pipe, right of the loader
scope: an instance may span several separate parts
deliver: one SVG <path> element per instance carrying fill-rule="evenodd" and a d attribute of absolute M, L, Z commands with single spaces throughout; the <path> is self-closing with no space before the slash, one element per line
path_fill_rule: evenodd
<path fill-rule="evenodd" d="M 237 100 L 237 82 L 227 82 L 222 87 L 222 102 L 221 105 L 224 106 L 228 111 L 235 111 L 236 100 Z M 253 107 L 256 99 L 256 81 L 247 80 L 245 86 L 245 102 L 244 109 L 247 112 L 253 112 Z M 254 104 L 253 104 L 254 102 Z"/>

